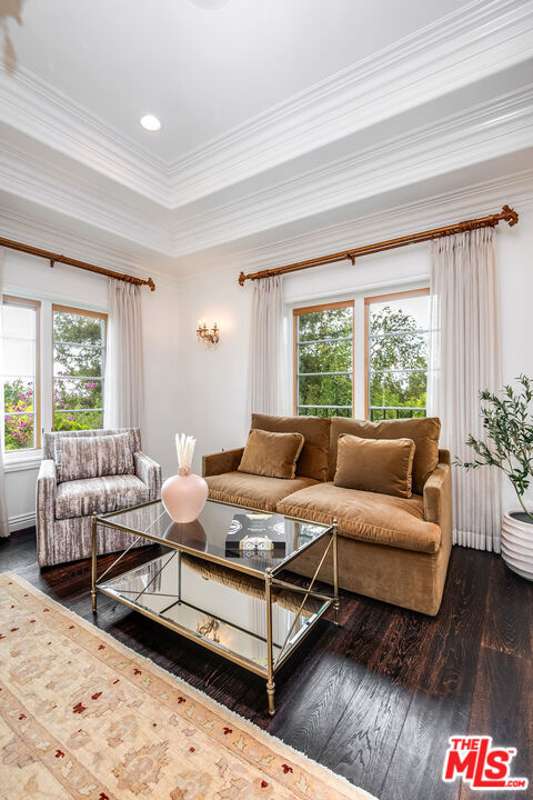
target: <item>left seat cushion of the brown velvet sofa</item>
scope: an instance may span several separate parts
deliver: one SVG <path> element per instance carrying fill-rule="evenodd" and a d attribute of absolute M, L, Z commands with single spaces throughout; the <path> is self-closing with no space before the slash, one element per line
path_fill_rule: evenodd
<path fill-rule="evenodd" d="M 275 511 L 280 500 L 299 489 L 316 483 L 312 478 L 264 478 L 245 472 L 224 472 L 220 476 L 208 476 L 211 500 L 223 500 L 232 506 L 248 506 L 261 511 Z"/>

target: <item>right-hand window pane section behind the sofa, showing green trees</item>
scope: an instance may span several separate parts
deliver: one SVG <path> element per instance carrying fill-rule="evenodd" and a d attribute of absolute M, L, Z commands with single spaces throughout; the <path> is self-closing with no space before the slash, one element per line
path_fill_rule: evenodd
<path fill-rule="evenodd" d="M 366 417 L 425 417 L 429 290 L 365 299 Z"/>

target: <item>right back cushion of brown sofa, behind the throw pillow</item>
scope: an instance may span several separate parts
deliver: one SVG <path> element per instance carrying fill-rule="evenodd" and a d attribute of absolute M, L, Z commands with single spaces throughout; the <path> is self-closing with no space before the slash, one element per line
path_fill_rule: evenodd
<path fill-rule="evenodd" d="M 413 492 L 422 494 L 424 483 L 439 463 L 441 420 L 436 417 L 416 417 L 404 420 L 354 420 L 333 417 L 331 420 L 329 480 L 336 470 L 338 439 L 351 433 L 361 439 L 412 439 L 414 441 Z"/>

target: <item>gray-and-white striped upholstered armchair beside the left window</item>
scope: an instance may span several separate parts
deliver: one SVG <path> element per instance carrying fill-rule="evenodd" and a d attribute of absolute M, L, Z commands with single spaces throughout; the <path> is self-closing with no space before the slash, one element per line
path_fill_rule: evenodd
<path fill-rule="evenodd" d="M 93 513 L 157 500 L 160 490 L 161 467 L 141 451 L 139 428 L 44 433 L 37 480 L 39 564 L 88 558 Z M 132 541 L 123 531 L 100 529 L 98 552 L 115 552 Z"/>

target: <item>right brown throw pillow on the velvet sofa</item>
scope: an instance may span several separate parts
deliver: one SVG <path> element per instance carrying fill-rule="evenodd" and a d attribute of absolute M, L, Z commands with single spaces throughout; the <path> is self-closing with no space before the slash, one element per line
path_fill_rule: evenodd
<path fill-rule="evenodd" d="M 361 439 L 341 433 L 333 483 L 410 498 L 413 459 L 412 439 Z"/>

